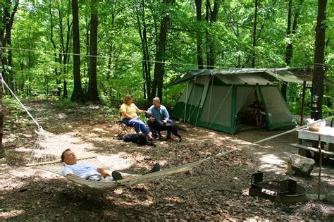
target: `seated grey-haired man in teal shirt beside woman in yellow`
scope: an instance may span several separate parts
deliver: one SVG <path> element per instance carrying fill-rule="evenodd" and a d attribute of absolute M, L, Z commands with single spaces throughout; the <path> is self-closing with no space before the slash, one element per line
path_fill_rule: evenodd
<path fill-rule="evenodd" d="M 153 99 L 153 105 L 149 107 L 147 110 L 149 113 L 152 114 L 153 117 L 150 118 L 156 118 L 159 121 L 162 121 L 163 123 L 173 123 L 171 119 L 169 119 L 169 113 L 165 106 L 161 105 L 159 97 L 155 97 Z M 152 129 L 152 122 L 153 119 L 150 120 L 150 118 L 147 120 L 147 125 L 149 126 L 149 129 L 152 132 L 153 137 L 157 137 L 156 132 Z M 167 130 L 167 137 L 166 139 L 171 139 L 171 131 Z"/>

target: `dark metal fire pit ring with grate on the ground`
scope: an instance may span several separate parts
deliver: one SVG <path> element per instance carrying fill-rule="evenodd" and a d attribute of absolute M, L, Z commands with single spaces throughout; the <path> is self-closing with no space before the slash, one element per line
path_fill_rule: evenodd
<path fill-rule="evenodd" d="M 306 190 L 297 185 L 295 180 L 266 180 L 264 173 L 258 172 L 252 175 L 252 185 L 249 195 L 270 199 L 272 202 L 281 204 L 295 204 L 307 201 Z"/>

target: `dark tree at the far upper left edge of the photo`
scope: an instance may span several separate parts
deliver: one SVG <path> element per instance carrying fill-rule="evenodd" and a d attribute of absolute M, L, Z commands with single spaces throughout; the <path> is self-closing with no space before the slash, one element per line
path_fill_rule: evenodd
<path fill-rule="evenodd" d="M 18 11 L 19 1 L 13 1 L 13 5 L 11 0 L 4 0 L 1 2 L 0 7 L 0 47 L 6 48 L 7 45 L 11 47 L 11 30 L 14 23 L 14 16 Z M 3 54 L 3 51 L 7 51 L 7 58 Z M 15 83 L 13 76 L 13 54 L 11 49 L 0 49 L 0 58 L 2 63 L 2 69 L 4 72 L 4 79 L 8 82 L 9 87 L 15 92 Z M 7 67 L 10 68 L 7 68 Z"/>

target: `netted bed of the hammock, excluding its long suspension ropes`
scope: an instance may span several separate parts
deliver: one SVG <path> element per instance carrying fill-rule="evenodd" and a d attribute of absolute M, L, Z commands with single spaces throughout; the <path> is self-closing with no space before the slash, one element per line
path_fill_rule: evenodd
<path fill-rule="evenodd" d="M 128 187 L 138 183 L 148 183 L 151 180 L 158 180 L 168 175 L 189 171 L 191 168 L 201 164 L 204 161 L 196 161 L 190 164 L 185 164 L 182 166 L 177 166 L 174 168 L 169 168 L 163 171 L 149 173 L 145 175 L 122 173 L 122 175 L 125 175 L 125 178 L 123 180 L 85 180 L 81 178 L 73 178 L 71 176 L 63 175 L 62 171 L 64 168 L 64 164 L 61 159 L 59 159 L 59 156 L 61 155 L 61 152 L 63 152 L 63 150 L 59 151 L 59 149 L 54 149 L 53 147 L 54 144 L 56 144 L 55 142 L 57 140 L 57 137 L 52 138 L 51 136 L 48 136 L 48 133 L 45 132 L 43 128 L 39 128 L 38 134 L 39 135 L 35 142 L 34 149 L 31 152 L 29 161 L 26 166 L 32 166 L 42 169 L 44 171 L 49 171 L 51 173 L 62 175 L 63 177 L 67 178 L 75 185 L 77 185 L 80 190 L 92 193 L 104 193 L 115 190 L 118 187 Z M 71 150 L 73 150 L 73 152 L 80 152 L 80 150 L 75 151 L 75 148 L 71 148 Z M 89 163 L 99 168 L 107 168 L 97 159 L 97 155 L 92 155 L 88 153 L 81 154 L 80 157 L 78 157 L 78 163 L 80 162 Z"/>

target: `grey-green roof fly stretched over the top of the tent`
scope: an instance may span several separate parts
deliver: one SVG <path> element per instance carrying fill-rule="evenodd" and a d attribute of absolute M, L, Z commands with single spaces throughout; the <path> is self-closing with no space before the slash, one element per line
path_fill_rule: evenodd
<path fill-rule="evenodd" d="M 225 83 L 235 84 L 259 84 L 266 85 L 270 82 L 295 82 L 303 83 L 307 81 L 311 84 L 313 69 L 312 68 L 228 68 L 223 70 L 188 70 L 180 75 L 169 86 L 176 85 L 180 82 L 191 80 L 192 78 L 214 75 Z M 334 85 L 334 82 L 323 80 L 325 85 Z"/>

